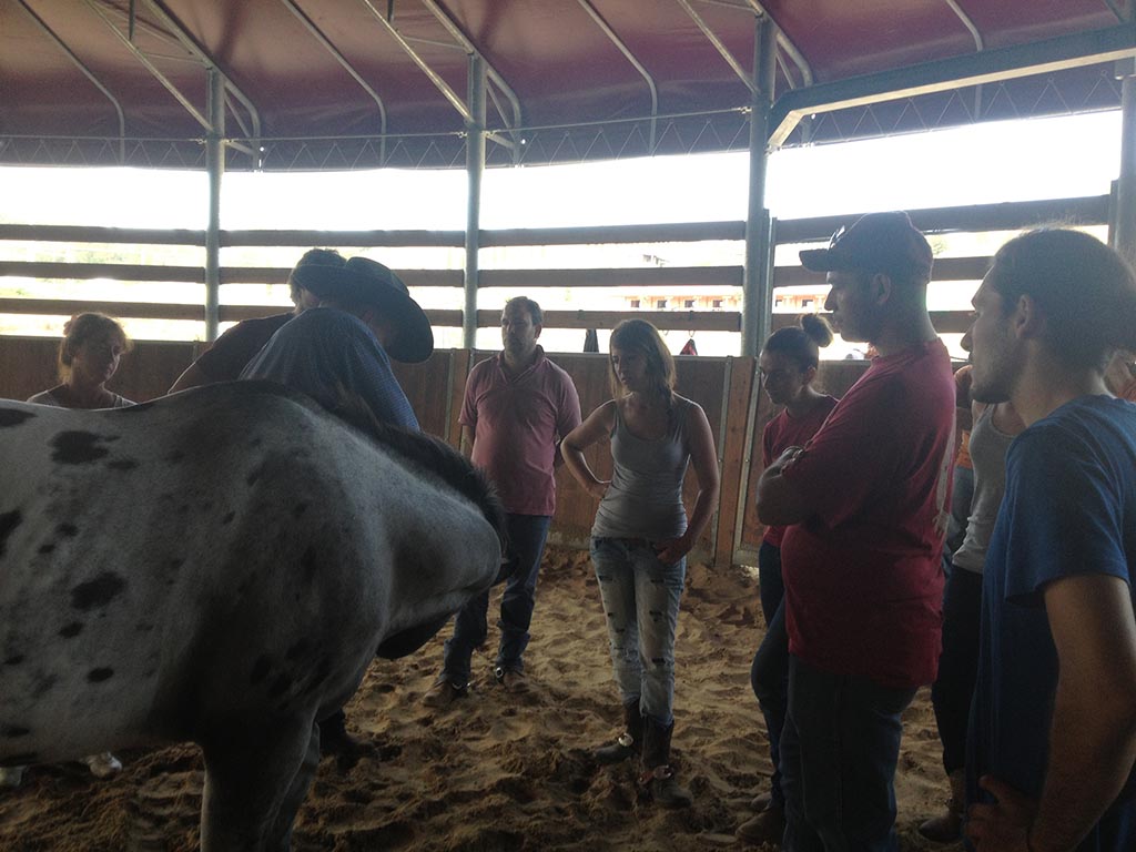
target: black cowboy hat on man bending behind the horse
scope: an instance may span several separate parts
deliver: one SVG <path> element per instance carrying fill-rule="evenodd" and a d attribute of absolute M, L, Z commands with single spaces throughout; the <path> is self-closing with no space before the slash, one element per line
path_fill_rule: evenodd
<path fill-rule="evenodd" d="M 349 258 L 343 266 L 302 264 L 292 279 L 320 299 L 378 308 L 399 328 L 386 353 L 396 361 L 418 364 L 434 351 L 434 331 L 426 312 L 410 298 L 398 275 L 370 258 Z"/>

